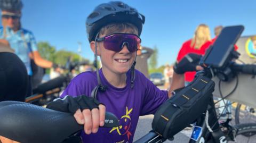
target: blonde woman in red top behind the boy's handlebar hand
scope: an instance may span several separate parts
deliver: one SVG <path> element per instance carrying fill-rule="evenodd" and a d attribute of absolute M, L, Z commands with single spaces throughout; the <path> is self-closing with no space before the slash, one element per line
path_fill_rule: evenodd
<path fill-rule="evenodd" d="M 189 53 L 195 53 L 203 55 L 205 53 L 205 48 L 201 48 L 201 46 L 206 42 L 211 40 L 210 28 L 206 24 L 199 24 L 196 28 L 193 38 L 185 41 L 182 44 L 177 62 L 179 62 L 184 56 Z M 200 66 L 197 66 L 197 70 L 201 70 Z M 186 72 L 185 73 L 185 84 L 191 82 L 195 77 L 196 72 Z"/>

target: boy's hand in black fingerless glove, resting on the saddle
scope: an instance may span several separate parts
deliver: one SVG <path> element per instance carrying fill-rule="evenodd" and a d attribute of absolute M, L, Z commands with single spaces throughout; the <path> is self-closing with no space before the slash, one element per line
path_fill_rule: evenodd
<path fill-rule="evenodd" d="M 106 107 L 98 100 L 85 95 L 58 98 L 47 105 L 46 108 L 73 113 L 77 123 L 84 124 L 86 134 L 96 133 L 99 126 L 102 127 L 105 123 Z"/>

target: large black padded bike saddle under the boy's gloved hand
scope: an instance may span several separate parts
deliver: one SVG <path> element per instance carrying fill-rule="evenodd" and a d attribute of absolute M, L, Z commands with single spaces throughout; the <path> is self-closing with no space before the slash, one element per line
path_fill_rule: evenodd
<path fill-rule="evenodd" d="M 107 112 L 104 127 L 118 125 L 117 117 Z M 0 102 L 0 136 L 15 141 L 62 142 L 82 129 L 83 125 L 79 125 L 71 113 L 23 102 Z"/>

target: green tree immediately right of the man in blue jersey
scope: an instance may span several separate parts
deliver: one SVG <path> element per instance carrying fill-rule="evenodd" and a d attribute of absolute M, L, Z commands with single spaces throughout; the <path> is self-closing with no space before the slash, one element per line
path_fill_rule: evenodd
<path fill-rule="evenodd" d="M 56 52 L 54 46 L 51 46 L 49 43 L 45 41 L 42 41 L 37 44 L 37 47 L 38 52 L 44 59 L 54 62 L 54 56 Z"/>

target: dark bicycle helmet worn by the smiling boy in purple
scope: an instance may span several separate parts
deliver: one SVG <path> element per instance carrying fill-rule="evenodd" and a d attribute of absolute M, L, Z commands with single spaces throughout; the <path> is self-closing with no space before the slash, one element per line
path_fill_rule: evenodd
<path fill-rule="evenodd" d="M 123 2 L 100 4 L 86 19 L 86 32 L 89 42 L 95 39 L 102 27 L 113 22 L 134 24 L 138 28 L 140 36 L 142 25 L 145 23 L 145 16 Z"/>

